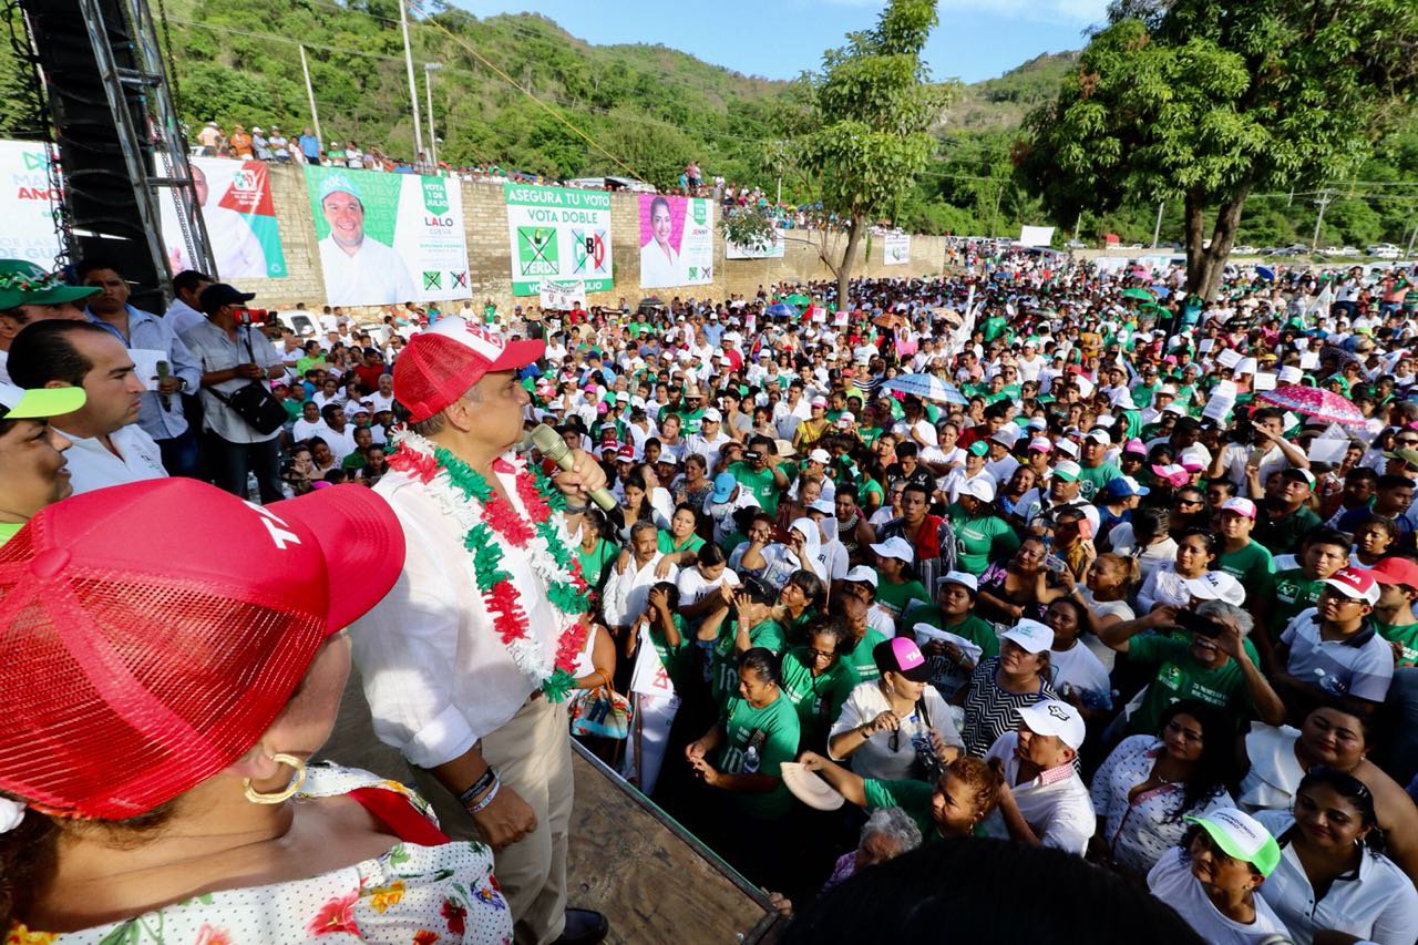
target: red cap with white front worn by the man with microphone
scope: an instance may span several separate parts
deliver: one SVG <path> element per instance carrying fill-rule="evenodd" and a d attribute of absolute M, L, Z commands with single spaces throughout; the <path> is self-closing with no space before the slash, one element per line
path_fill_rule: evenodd
<path fill-rule="evenodd" d="M 394 362 L 394 399 L 418 423 L 468 393 L 484 375 L 525 368 L 545 352 L 546 342 L 509 342 L 444 315 L 427 332 L 410 338 Z"/>

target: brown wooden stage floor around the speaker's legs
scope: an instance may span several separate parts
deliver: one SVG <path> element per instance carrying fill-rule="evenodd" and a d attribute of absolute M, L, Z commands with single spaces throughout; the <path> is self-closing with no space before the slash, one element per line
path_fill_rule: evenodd
<path fill-rule="evenodd" d="M 573 748 L 570 901 L 610 918 L 607 941 L 777 941 L 784 922 L 759 890 L 590 752 Z M 404 759 L 374 738 L 357 671 L 319 756 L 413 782 Z"/>

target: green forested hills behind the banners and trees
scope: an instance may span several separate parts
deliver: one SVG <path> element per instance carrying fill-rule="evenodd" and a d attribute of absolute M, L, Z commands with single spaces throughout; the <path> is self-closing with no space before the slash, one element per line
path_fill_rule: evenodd
<path fill-rule="evenodd" d="M 774 189 L 773 153 L 793 126 L 788 115 L 797 112 L 793 84 L 742 75 L 662 45 L 591 45 L 535 14 L 476 18 L 444 0 L 408 3 L 420 108 L 427 101 L 423 67 L 441 64 L 432 72 L 440 158 L 552 177 L 630 173 L 661 187 L 672 186 L 685 163 L 698 160 L 706 175 Z M 303 45 L 325 140 L 413 156 L 398 0 L 150 0 L 150 6 L 193 133 L 216 119 L 228 129 L 237 122 L 279 125 L 298 135 L 311 123 Z M 891 217 L 917 233 L 1010 234 L 1021 223 L 1051 223 L 1021 189 L 1011 150 L 1024 115 L 1054 95 L 1076 61 L 1076 52 L 1045 54 L 961 87 L 934 129 L 937 160 Z M 947 70 L 936 72 L 949 78 Z M 0 43 L 0 136 L 38 136 L 30 87 L 10 44 Z M 1356 180 L 1418 186 L 1418 132 L 1380 142 Z M 1322 244 L 1405 238 L 1418 204 L 1385 187 L 1371 190 L 1344 187 L 1326 211 Z M 783 180 L 783 196 L 815 199 L 791 175 Z M 1156 204 L 1130 206 L 1054 223 L 1066 231 L 1078 223 L 1085 240 L 1117 233 L 1124 241 L 1149 241 L 1156 213 Z M 1248 203 L 1239 241 L 1307 241 L 1313 227 L 1312 204 L 1269 194 Z M 1168 204 L 1161 241 L 1180 238 L 1180 206 Z"/>

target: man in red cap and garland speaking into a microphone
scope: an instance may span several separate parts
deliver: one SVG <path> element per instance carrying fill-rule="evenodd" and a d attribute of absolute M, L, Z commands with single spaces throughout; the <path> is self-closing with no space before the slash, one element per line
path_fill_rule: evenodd
<path fill-rule="evenodd" d="M 408 342 L 394 368 L 408 426 L 376 487 L 408 553 L 352 637 L 374 731 L 445 831 L 493 849 L 516 941 L 594 942 L 604 917 L 566 908 L 564 700 L 591 612 L 571 535 L 605 474 L 577 450 L 552 484 L 513 454 L 518 370 L 543 352 L 454 316 Z"/>

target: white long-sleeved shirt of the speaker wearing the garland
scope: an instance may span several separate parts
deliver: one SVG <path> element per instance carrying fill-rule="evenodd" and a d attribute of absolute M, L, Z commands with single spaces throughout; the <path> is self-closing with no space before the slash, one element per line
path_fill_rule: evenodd
<path fill-rule="evenodd" d="M 513 475 L 499 471 L 498 478 L 525 515 Z M 350 626 L 354 663 L 379 739 L 411 763 L 434 768 L 505 725 L 540 681 L 523 675 L 493 630 L 462 531 L 437 497 L 398 470 L 374 491 L 398 516 L 407 552 L 394 587 Z M 573 546 L 562 515 L 553 519 L 560 541 Z M 527 634 L 554 653 L 570 617 L 547 599 L 522 552 L 499 548 L 501 568 L 520 592 Z"/>

